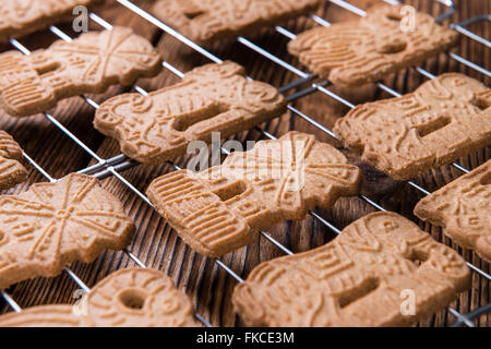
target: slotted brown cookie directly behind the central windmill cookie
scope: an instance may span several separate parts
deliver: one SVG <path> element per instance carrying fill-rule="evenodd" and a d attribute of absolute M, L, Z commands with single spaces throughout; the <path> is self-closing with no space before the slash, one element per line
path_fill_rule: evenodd
<path fill-rule="evenodd" d="M 286 111 L 282 94 L 271 85 L 248 81 L 233 62 L 207 64 L 181 83 L 151 93 L 127 94 L 104 103 L 94 125 L 116 137 L 127 156 L 158 165 L 187 154 L 192 141 L 227 137 Z"/>

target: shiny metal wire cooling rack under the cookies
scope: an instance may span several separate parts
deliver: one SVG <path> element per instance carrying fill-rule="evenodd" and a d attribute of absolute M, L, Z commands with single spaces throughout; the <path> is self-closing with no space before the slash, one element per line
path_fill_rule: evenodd
<path fill-rule="evenodd" d="M 166 25 L 164 22 L 161 22 L 160 20 L 154 17 L 151 13 L 144 11 L 143 9 L 141 9 L 140 7 L 137 7 L 136 4 L 134 4 L 133 2 L 129 1 L 129 0 L 116 0 L 117 2 L 119 2 L 122 7 L 133 11 L 134 13 L 136 13 L 137 15 L 142 16 L 143 19 L 145 19 L 146 21 L 153 23 L 154 25 L 156 25 L 158 28 L 160 28 L 161 31 L 166 32 L 167 34 L 170 34 L 171 36 L 173 36 L 176 39 L 180 40 L 182 44 L 189 46 L 191 49 L 197 51 L 199 53 L 203 55 L 205 58 L 209 59 L 211 61 L 215 62 L 215 63 L 221 63 L 223 60 L 218 57 L 216 57 L 215 55 L 213 55 L 212 52 L 209 52 L 208 50 L 200 47 L 197 44 L 193 43 L 192 40 L 188 39 L 187 37 L 184 37 L 183 35 L 181 35 L 180 33 L 178 33 L 177 31 L 175 31 L 173 28 L 171 28 L 170 26 Z M 345 0 L 327 0 L 331 1 L 333 4 L 338 5 L 347 11 L 350 11 L 359 16 L 366 16 L 367 13 L 355 7 L 354 4 L 349 3 L 348 1 Z M 398 4 L 400 3 L 398 0 L 381 0 L 391 4 Z M 455 12 L 455 5 L 454 2 L 452 0 L 433 0 L 435 2 L 442 3 L 447 8 L 447 11 L 445 11 L 443 14 L 441 14 L 436 21 L 438 22 L 442 22 L 446 19 L 448 19 L 454 12 Z M 89 13 L 89 19 L 92 21 L 94 21 L 95 23 L 97 23 L 98 25 L 100 25 L 103 28 L 105 29 L 111 29 L 112 25 L 110 23 L 108 23 L 107 21 L 105 21 L 104 19 L 101 19 L 100 16 L 98 16 L 96 13 Z M 319 25 L 321 26 L 330 26 L 331 23 L 328 23 L 327 21 L 325 21 L 324 19 L 313 14 L 311 15 L 311 19 Z M 457 23 L 457 24 L 451 24 L 451 28 L 453 28 L 454 31 L 460 33 L 462 35 L 467 36 L 468 38 L 484 45 L 487 48 L 490 48 L 491 43 L 470 32 L 469 29 L 467 29 L 466 27 L 468 27 L 471 24 L 475 23 L 479 23 L 479 22 L 486 22 L 486 21 L 491 21 L 491 15 L 480 15 L 474 19 L 469 19 L 466 20 L 462 23 Z M 70 37 L 68 34 L 65 34 L 64 32 L 62 32 L 59 27 L 57 26 L 50 26 L 50 31 L 58 36 L 59 38 L 65 40 L 65 41 L 71 41 L 72 37 Z M 291 32 L 289 32 L 288 29 L 286 29 L 285 27 L 282 26 L 276 26 L 275 31 L 279 34 L 282 34 L 283 36 L 285 36 L 288 39 L 294 39 L 296 37 L 296 35 Z M 288 91 L 291 91 L 294 88 L 297 88 L 306 83 L 310 83 L 311 81 L 315 80 L 318 76 L 313 75 L 313 74 L 309 74 L 306 73 L 297 68 L 295 68 L 294 65 L 289 64 L 288 62 L 282 60 L 280 58 L 272 55 L 271 52 L 268 52 L 266 49 L 261 48 L 260 46 L 253 44 L 252 41 L 248 40 L 247 38 L 240 36 L 237 38 L 237 40 L 252 49 L 253 51 L 255 51 L 256 53 L 261 55 L 262 57 L 273 61 L 274 63 L 280 65 L 282 68 L 288 70 L 289 72 L 294 73 L 295 75 L 298 76 L 297 80 L 295 80 L 294 82 L 279 87 L 278 89 L 282 93 L 286 93 Z M 20 50 L 21 52 L 23 52 L 24 55 L 29 55 L 29 50 L 24 47 L 19 40 L 16 39 L 10 39 L 10 44 L 17 50 Z M 456 53 L 453 52 L 448 52 L 448 56 L 451 59 L 456 60 L 457 62 L 472 69 L 476 70 L 477 72 L 486 75 L 486 76 L 491 76 L 491 72 L 488 71 L 487 69 L 484 69 L 483 67 L 480 67 Z M 167 61 L 163 62 L 163 65 L 165 69 L 167 69 L 168 71 L 170 71 L 172 74 L 177 75 L 178 77 L 183 77 L 184 73 L 179 71 L 177 68 L 175 68 L 172 64 L 170 64 Z M 431 74 L 430 72 L 428 72 L 427 70 L 416 67 L 415 68 L 416 71 L 418 71 L 420 74 L 422 74 L 423 76 L 428 77 L 428 79 L 434 79 L 435 76 L 433 74 Z M 249 79 L 249 77 L 248 77 Z M 292 103 L 295 100 L 298 100 L 304 96 L 311 95 L 315 92 L 320 92 L 322 94 L 325 94 L 326 96 L 337 100 L 338 103 L 349 107 L 349 108 L 355 108 L 355 105 L 351 104 L 350 101 L 348 101 L 347 99 L 343 98 L 342 96 L 339 96 L 338 94 L 335 94 L 333 92 L 331 92 L 330 89 L 327 89 L 327 86 L 330 85 L 328 81 L 321 81 L 321 82 L 316 82 L 316 83 L 312 83 L 311 86 L 301 89 L 299 92 L 296 92 L 291 95 L 289 95 L 287 97 L 287 100 L 289 103 Z M 390 95 L 394 96 L 394 97 L 400 97 L 402 94 L 399 94 L 398 92 L 394 91 L 393 88 L 386 86 L 383 83 L 378 83 L 378 87 L 381 88 L 382 91 L 388 93 Z M 148 93 L 143 89 L 142 87 L 134 85 L 133 86 L 134 91 L 136 91 L 137 93 L 142 94 L 142 95 L 147 95 Z M 99 105 L 94 101 L 93 99 L 86 97 L 86 96 L 82 96 L 82 98 L 89 105 L 92 106 L 94 109 L 98 109 Z M 308 123 L 312 124 L 313 127 L 318 128 L 319 130 L 321 130 L 322 132 L 326 133 L 327 135 L 330 135 L 331 137 L 337 140 L 336 135 L 326 127 L 324 127 L 323 124 L 319 123 L 318 121 L 315 121 L 314 119 L 312 119 L 311 117 L 309 117 L 308 115 L 303 113 L 302 111 L 298 110 L 297 108 L 295 108 L 291 104 L 288 105 L 288 109 L 297 117 L 303 119 L 304 121 L 307 121 Z M 149 202 L 149 200 L 141 192 L 139 191 L 130 181 L 128 181 L 122 174 L 120 174 L 121 171 L 130 169 L 132 167 L 139 166 L 139 164 L 134 160 L 129 159 L 128 157 L 125 157 L 124 155 L 120 154 L 118 156 L 111 157 L 109 159 L 104 159 L 101 157 L 99 157 L 95 152 L 93 152 L 86 144 L 84 144 L 79 137 L 76 137 L 72 132 L 70 132 L 63 124 L 61 124 L 56 118 L 53 118 L 51 115 L 49 115 L 48 112 L 44 112 L 44 116 L 46 119 L 48 119 L 56 128 L 58 128 L 61 132 L 63 132 L 68 137 L 71 139 L 71 141 L 73 141 L 79 147 L 81 147 L 85 153 L 87 153 L 97 164 L 94 166 L 89 166 L 81 171 L 79 171 L 79 173 L 85 173 L 85 174 L 92 174 L 98 179 L 105 179 L 108 177 L 116 177 L 123 185 L 125 185 L 128 189 L 130 189 L 135 195 L 137 195 L 141 200 L 143 200 L 146 204 L 148 204 L 151 207 L 153 207 L 152 203 Z M 260 128 L 255 128 L 259 132 L 261 132 L 263 134 L 264 137 L 270 139 L 270 140 L 276 140 L 276 137 L 260 129 Z M 221 152 L 224 154 L 229 154 L 229 152 L 226 148 L 221 148 Z M 27 154 L 23 154 L 24 158 L 37 170 L 39 171 L 48 181 L 50 182 L 56 182 L 57 180 L 55 178 L 52 178 L 43 167 L 40 167 L 32 157 L 29 157 Z M 179 170 L 181 169 L 179 166 L 175 165 L 173 163 L 169 164 L 176 169 Z M 457 168 L 458 170 L 460 170 L 464 173 L 469 172 L 468 169 L 464 168 L 463 166 L 458 165 L 457 163 L 452 164 L 452 166 L 454 166 L 455 168 Z M 408 181 L 408 184 L 411 185 L 412 188 L 415 188 L 416 190 L 420 191 L 423 195 L 429 195 L 431 194 L 429 191 L 427 191 L 426 189 L 421 188 L 420 185 L 418 185 L 417 183 L 412 182 L 412 181 Z M 381 205 L 379 205 L 374 200 L 371 200 L 370 197 L 366 196 L 366 195 L 360 195 L 360 198 L 364 202 L 367 202 L 369 205 L 373 206 L 374 208 L 376 208 L 378 210 L 383 210 L 385 212 L 386 209 L 384 207 L 382 207 Z M 319 222 L 321 222 L 323 226 L 325 226 L 326 228 L 328 228 L 330 230 L 332 230 L 333 232 L 339 234 L 340 230 L 334 226 L 333 224 L 331 224 L 330 221 L 327 221 L 326 219 L 324 219 L 322 216 L 320 216 L 319 214 L 314 213 L 314 212 L 310 212 L 310 215 L 316 219 Z M 266 231 L 261 231 L 261 236 L 263 238 L 265 238 L 268 242 L 273 243 L 276 248 L 278 248 L 283 253 L 287 254 L 287 255 L 292 255 L 294 253 L 288 250 L 285 245 L 283 245 L 282 243 L 279 243 L 277 240 L 275 240 L 268 232 Z M 130 250 L 124 250 L 123 251 L 136 265 L 139 265 L 140 267 L 146 267 L 145 264 L 139 260 L 139 257 L 132 253 Z M 224 262 L 221 262 L 221 260 L 216 258 L 214 260 L 214 262 L 220 267 L 223 268 L 226 273 L 228 273 L 233 279 L 236 279 L 238 282 L 243 282 L 243 279 L 237 275 L 230 267 L 228 267 Z M 479 277 L 481 277 L 483 280 L 491 280 L 491 276 L 489 274 L 487 274 L 484 270 L 480 269 L 479 267 L 467 263 L 467 265 L 471 268 L 471 270 L 474 273 L 476 273 L 477 275 L 479 275 Z M 70 278 L 84 291 L 84 292 L 89 292 L 89 287 L 87 285 L 85 285 L 81 278 L 73 273 L 69 267 L 64 268 L 64 272 L 70 276 Z M 15 312 L 22 312 L 21 306 L 15 302 L 15 300 L 4 290 L 0 290 L 0 296 L 7 301 L 7 303 L 12 308 L 13 311 Z M 448 311 L 451 314 L 453 314 L 456 317 L 455 323 L 453 324 L 453 326 L 468 326 L 468 327 L 475 327 L 475 323 L 474 321 L 476 318 L 478 318 L 479 316 L 481 316 L 482 314 L 489 313 L 491 312 L 491 303 L 483 305 L 479 309 L 476 309 L 474 311 L 471 311 L 468 314 L 462 314 L 459 312 L 457 312 L 455 309 L 453 308 L 448 308 Z M 203 325 L 205 326 L 212 326 L 203 316 L 201 316 L 200 314 L 196 313 L 196 318 L 203 323 Z"/>

